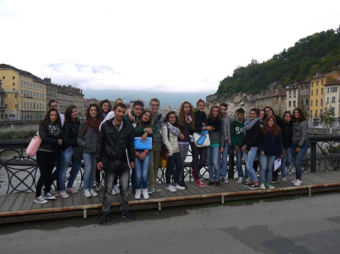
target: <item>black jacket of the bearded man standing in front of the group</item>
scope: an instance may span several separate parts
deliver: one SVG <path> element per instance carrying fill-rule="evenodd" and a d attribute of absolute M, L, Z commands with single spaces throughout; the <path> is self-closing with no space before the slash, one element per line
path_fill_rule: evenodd
<path fill-rule="evenodd" d="M 104 161 L 126 161 L 126 152 L 129 153 L 130 161 L 135 161 L 135 145 L 133 127 L 123 120 L 123 127 L 117 131 L 113 126 L 113 119 L 103 123 L 97 142 L 96 160 Z M 103 165 L 104 168 L 105 165 Z"/>

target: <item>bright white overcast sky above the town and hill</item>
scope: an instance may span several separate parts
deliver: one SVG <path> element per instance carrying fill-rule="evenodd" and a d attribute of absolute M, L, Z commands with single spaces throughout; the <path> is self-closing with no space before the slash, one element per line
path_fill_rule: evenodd
<path fill-rule="evenodd" d="M 336 0 L 0 0 L 0 63 L 87 92 L 208 94 L 339 17 Z"/>

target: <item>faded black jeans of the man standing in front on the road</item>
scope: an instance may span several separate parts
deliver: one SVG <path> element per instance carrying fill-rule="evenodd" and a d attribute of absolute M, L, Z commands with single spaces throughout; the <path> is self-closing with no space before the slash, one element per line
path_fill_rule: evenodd
<path fill-rule="evenodd" d="M 128 200 L 128 181 L 130 168 L 127 162 L 112 161 L 103 163 L 105 167 L 105 188 L 102 211 L 104 213 L 111 212 L 112 202 L 112 189 L 115 176 L 119 175 L 119 188 L 120 188 L 120 212 L 124 214 L 129 211 L 129 200 Z"/>

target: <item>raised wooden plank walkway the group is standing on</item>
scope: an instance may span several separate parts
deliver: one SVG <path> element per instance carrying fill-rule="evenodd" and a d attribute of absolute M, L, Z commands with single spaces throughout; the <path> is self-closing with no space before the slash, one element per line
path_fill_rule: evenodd
<path fill-rule="evenodd" d="M 221 182 L 221 186 L 198 187 L 194 182 L 186 182 L 188 188 L 175 193 L 166 190 L 165 184 L 158 184 L 161 192 L 150 195 L 150 199 L 135 200 L 129 192 L 130 210 L 158 209 L 183 205 L 222 203 L 231 200 L 243 200 L 253 198 L 265 198 L 274 196 L 286 196 L 315 192 L 340 190 L 340 171 L 303 173 L 302 186 L 293 186 L 290 181 L 295 174 L 288 174 L 288 182 L 281 178 L 274 184 L 273 190 L 250 190 L 236 182 L 237 179 L 229 179 L 230 183 Z M 103 190 L 98 192 L 98 197 L 86 198 L 83 192 L 70 194 L 63 199 L 57 197 L 46 204 L 34 203 L 34 193 L 15 193 L 0 195 L 0 224 L 21 222 L 29 220 L 52 219 L 60 217 L 84 216 L 98 214 L 102 206 Z M 119 211 L 119 196 L 114 195 L 112 212 Z"/>

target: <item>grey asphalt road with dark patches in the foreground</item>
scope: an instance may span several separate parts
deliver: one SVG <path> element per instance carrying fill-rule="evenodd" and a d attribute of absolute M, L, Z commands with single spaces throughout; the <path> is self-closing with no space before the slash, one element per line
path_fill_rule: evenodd
<path fill-rule="evenodd" d="M 1 254 L 339 254 L 340 192 L 0 225 Z"/>

